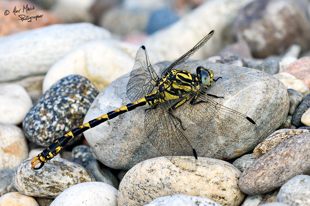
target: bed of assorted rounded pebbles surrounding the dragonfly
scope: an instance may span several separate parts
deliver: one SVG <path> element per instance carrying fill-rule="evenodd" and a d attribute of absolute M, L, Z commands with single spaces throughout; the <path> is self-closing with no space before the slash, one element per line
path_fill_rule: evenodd
<path fill-rule="evenodd" d="M 2 2 L 10 14 L 0 15 L 1 206 L 310 206 L 309 1 Z M 23 4 L 46 18 L 16 24 L 11 11 Z M 130 103 L 126 85 L 141 45 L 160 75 L 211 30 L 176 68 L 210 67 L 222 78 L 208 93 L 252 118 L 257 133 L 210 136 L 182 122 L 198 154 L 190 172 L 151 144 L 140 107 L 31 169 L 57 138 Z"/>

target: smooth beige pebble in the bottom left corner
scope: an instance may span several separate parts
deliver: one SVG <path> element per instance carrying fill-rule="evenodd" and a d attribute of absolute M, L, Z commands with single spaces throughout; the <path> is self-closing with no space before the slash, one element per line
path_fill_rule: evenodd
<path fill-rule="evenodd" d="M 9 192 L 0 197 L 1 206 L 39 206 L 37 201 L 30 196 L 20 192 Z"/>

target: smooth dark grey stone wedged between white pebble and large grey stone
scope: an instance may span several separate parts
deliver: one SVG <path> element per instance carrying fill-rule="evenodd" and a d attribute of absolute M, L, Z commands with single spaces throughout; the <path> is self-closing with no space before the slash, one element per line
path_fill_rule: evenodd
<path fill-rule="evenodd" d="M 91 161 L 85 169 L 89 171 L 98 182 L 104 182 L 107 183 L 116 189 L 118 189 L 118 181 L 117 178 L 113 175 L 113 173 L 104 168 L 100 168 L 97 160 Z"/>

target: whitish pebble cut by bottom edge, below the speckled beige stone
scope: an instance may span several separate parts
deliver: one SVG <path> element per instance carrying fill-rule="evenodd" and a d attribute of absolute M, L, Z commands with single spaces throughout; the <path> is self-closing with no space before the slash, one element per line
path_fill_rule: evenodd
<path fill-rule="evenodd" d="M 221 204 L 204 197 L 171 195 L 158 197 L 145 206 L 221 206 Z"/>

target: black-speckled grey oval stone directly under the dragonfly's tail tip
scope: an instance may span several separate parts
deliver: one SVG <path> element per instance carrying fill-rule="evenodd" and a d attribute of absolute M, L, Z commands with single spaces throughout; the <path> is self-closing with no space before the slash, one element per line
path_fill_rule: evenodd
<path fill-rule="evenodd" d="M 13 176 L 15 188 L 25 195 L 55 198 L 66 188 L 95 181 L 84 167 L 62 158 L 53 158 L 42 169 L 31 169 L 30 157 L 17 167 Z"/>

